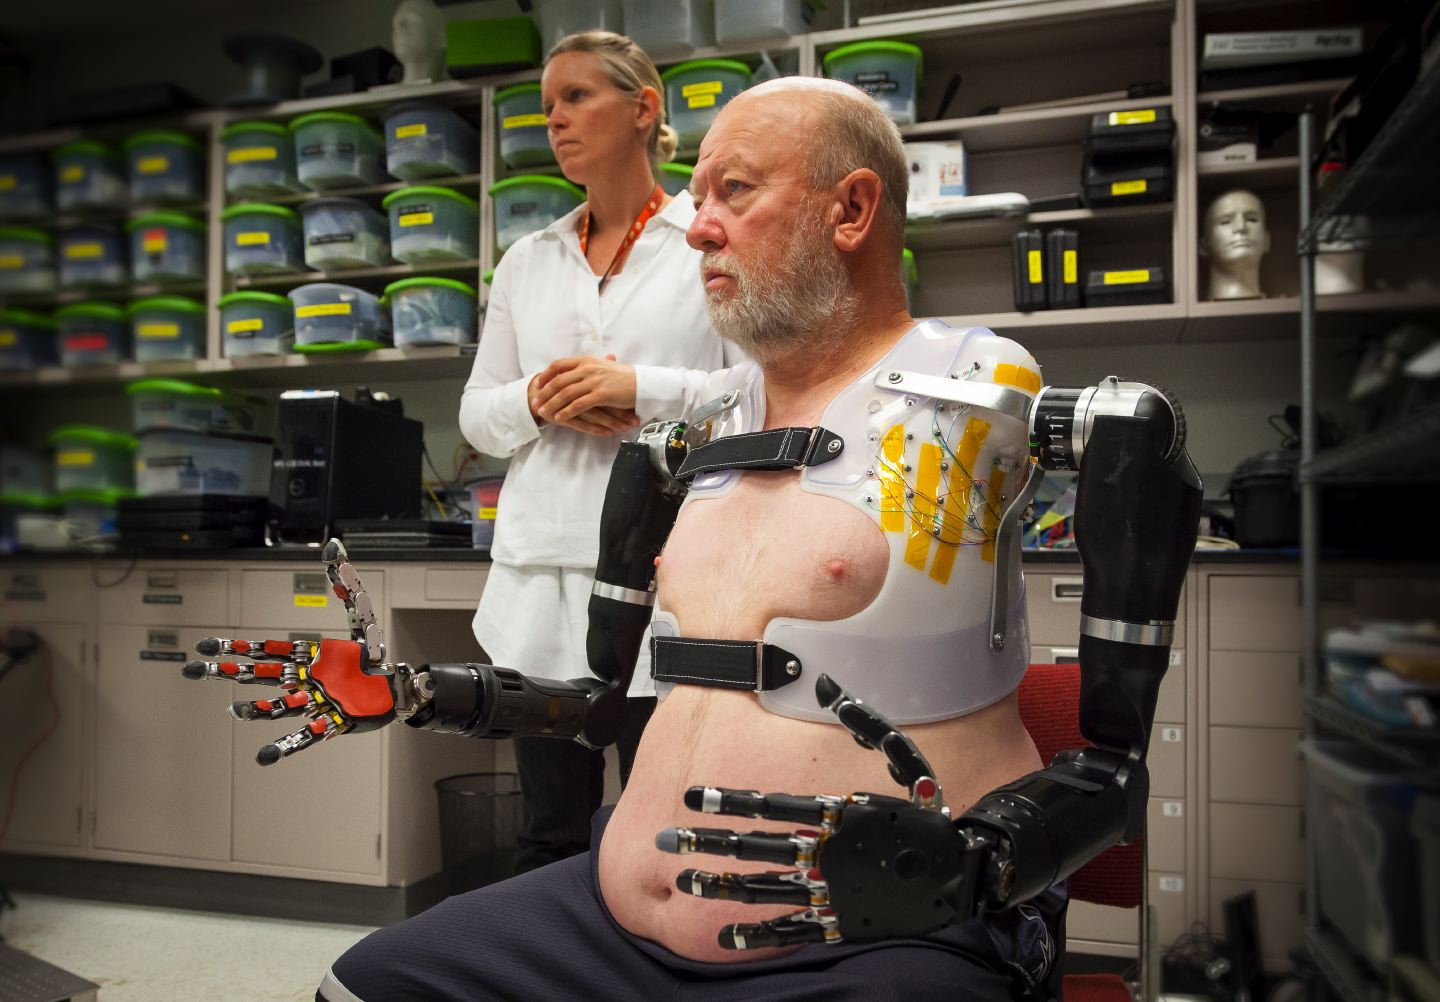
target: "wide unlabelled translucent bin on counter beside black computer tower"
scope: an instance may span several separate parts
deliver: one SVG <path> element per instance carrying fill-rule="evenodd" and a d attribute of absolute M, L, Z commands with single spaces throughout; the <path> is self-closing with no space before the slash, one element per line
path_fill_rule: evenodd
<path fill-rule="evenodd" d="M 265 438 L 156 428 L 140 435 L 135 494 L 269 497 L 272 452 Z"/>

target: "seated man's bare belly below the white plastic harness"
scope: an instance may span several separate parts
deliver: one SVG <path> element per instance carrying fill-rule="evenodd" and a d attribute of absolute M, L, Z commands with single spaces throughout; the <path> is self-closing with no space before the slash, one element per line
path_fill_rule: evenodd
<path fill-rule="evenodd" d="M 935 766 L 955 813 L 1002 783 L 1040 767 L 1011 695 L 985 710 L 906 733 Z M 780 717 L 756 697 L 730 690 L 680 685 L 660 704 L 641 741 L 624 796 L 600 845 L 600 893 L 631 933 L 693 960 L 737 962 L 789 950 L 723 950 L 721 926 L 760 921 L 796 906 L 749 906 L 697 898 L 675 888 L 685 868 L 762 872 L 772 864 L 729 857 L 677 857 L 655 848 L 664 828 L 788 831 L 793 825 L 720 818 L 687 811 L 690 786 L 729 786 L 765 793 L 874 792 L 901 796 L 886 757 L 855 744 L 838 724 Z"/>

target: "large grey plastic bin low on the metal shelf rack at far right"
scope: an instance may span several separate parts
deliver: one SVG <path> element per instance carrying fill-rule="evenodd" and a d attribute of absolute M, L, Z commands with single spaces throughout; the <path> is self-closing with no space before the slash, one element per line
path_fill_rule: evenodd
<path fill-rule="evenodd" d="M 1392 760 L 1349 741 L 1300 741 L 1305 831 L 1319 865 L 1320 914 L 1384 970 L 1420 947 L 1410 819 L 1421 790 Z"/>

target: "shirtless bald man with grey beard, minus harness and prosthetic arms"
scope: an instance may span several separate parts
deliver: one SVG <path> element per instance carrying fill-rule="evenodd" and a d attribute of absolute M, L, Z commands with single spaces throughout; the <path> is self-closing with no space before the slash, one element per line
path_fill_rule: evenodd
<path fill-rule="evenodd" d="M 734 98 L 716 118 L 691 181 L 697 215 L 688 242 L 704 255 L 698 281 L 716 330 L 756 363 L 711 377 L 717 390 L 743 386 L 752 430 L 832 422 L 828 409 L 847 390 L 876 396 L 865 389 L 876 367 L 903 346 L 914 351 L 919 343 L 949 344 L 945 338 L 960 344 L 960 333 L 917 327 L 906 310 L 906 179 L 894 125 L 844 84 L 772 81 Z M 1034 366 L 1018 346 L 982 335 L 1018 364 Z M 855 456 L 867 448 L 860 439 L 847 446 Z M 1009 448 L 1022 458 L 1024 442 Z M 996 468 L 1018 461 L 994 458 Z M 660 561 L 657 633 L 668 623 L 683 636 L 769 641 L 766 628 L 776 618 L 855 618 L 876 602 L 887 574 L 896 574 L 891 540 L 876 517 L 814 485 L 806 489 L 795 471 L 746 474 L 726 489 L 701 488 L 697 479 Z M 992 534 L 989 541 L 994 546 Z M 960 567 L 955 573 L 969 573 L 988 595 L 985 547 L 955 549 L 962 551 L 950 557 Z M 936 587 L 930 577 L 939 580 L 937 566 L 929 576 L 919 573 L 914 587 Z M 1022 672 L 1025 645 L 1017 646 Z M 901 668 L 870 664 L 867 671 L 880 684 L 881 674 L 900 678 Z M 1014 669 L 976 680 L 959 710 L 929 714 L 927 723 L 903 714 L 897 720 L 935 766 L 956 815 L 1041 766 L 1017 708 L 1018 681 Z M 662 690 L 629 785 L 613 813 L 595 818 L 592 852 L 449 898 L 374 933 L 334 963 L 317 998 L 1053 998 L 1063 888 L 923 939 L 721 949 L 721 926 L 795 907 L 703 900 L 677 890 L 681 867 L 655 848 L 655 835 L 707 823 L 685 809 L 687 787 L 809 795 L 893 792 L 894 782 L 886 759 L 861 749 L 832 720 L 768 705 L 753 691 L 704 684 Z M 927 694 L 914 695 L 912 703 L 923 703 Z M 788 826 L 756 821 L 752 828 Z M 737 872 L 773 870 L 724 862 Z"/>

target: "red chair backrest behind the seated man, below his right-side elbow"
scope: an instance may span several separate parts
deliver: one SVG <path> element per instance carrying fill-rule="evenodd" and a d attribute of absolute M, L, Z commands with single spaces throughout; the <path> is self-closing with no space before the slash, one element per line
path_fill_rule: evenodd
<path fill-rule="evenodd" d="M 1057 752 L 1086 747 L 1080 734 L 1080 665 L 1031 665 L 1020 682 L 1020 717 L 1047 764 Z M 1145 854 L 1140 841 L 1116 845 L 1070 875 L 1070 898 L 1135 908 Z"/>

